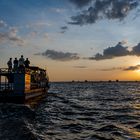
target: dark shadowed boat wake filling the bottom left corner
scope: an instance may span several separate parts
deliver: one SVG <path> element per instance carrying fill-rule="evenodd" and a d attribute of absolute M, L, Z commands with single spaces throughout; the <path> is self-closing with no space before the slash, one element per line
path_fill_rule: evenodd
<path fill-rule="evenodd" d="M 0 104 L 1 140 L 37 140 L 35 112 L 25 105 Z M 41 139 L 41 137 L 40 137 Z"/>

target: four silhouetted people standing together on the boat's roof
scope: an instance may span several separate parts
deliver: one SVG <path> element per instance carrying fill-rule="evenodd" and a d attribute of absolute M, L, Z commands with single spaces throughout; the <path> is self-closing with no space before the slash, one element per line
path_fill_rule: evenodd
<path fill-rule="evenodd" d="M 26 58 L 25 60 L 23 55 L 21 55 L 19 60 L 15 58 L 13 62 L 12 58 L 10 58 L 9 61 L 7 62 L 7 65 L 9 71 L 12 71 L 12 69 L 14 71 L 17 71 L 18 69 L 23 70 L 24 68 L 29 68 L 30 61 L 28 60 L 28 58 Z"/>

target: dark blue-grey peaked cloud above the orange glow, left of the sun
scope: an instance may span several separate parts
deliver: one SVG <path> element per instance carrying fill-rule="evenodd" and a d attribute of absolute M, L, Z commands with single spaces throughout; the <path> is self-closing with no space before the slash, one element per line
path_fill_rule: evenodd
<path fill-rule="evenodd" d="M 97 53 L 94 57 L 90 57 L 89 59 L 103 60 L 126 55 L 130 55 L 130 51 L 127 50 L 127 47 L 123 46 L 122 42 L 119 42 L 115 47 L 109 47 L 105 49 L 103 54 Z"/>

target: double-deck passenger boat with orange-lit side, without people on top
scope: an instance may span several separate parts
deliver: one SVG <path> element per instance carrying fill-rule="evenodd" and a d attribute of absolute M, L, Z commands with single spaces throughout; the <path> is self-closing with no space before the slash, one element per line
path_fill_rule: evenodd
<path fill-rule="evenodd" d="M 0 102 L 22 104 L 39 96 L 44 97 L 48 89 L 49 77 L 42 68 L 0 68 Z"/>

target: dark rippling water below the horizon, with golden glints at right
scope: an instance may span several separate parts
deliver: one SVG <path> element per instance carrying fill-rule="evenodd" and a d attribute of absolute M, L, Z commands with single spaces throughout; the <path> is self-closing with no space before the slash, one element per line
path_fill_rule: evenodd
<path fill-rule="evenodd" d="M 140 83 L 52 83 L 35 108 L 0 104 L 0 140 L 139 140 Z"/>

